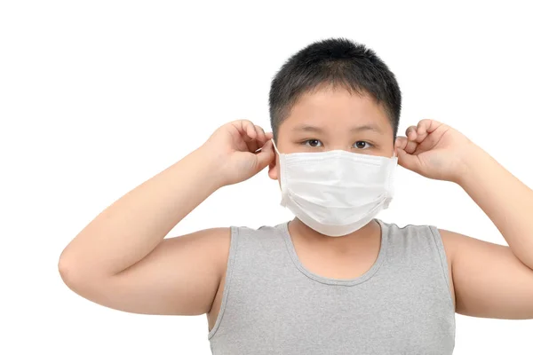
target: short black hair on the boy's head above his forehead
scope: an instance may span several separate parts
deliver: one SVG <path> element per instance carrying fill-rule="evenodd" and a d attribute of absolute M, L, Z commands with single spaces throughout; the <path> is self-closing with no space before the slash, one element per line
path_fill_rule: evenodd
<path fill-rule="evenodd" d="M 398 132 L 402 92 L 394 74 L 375 51 L 344 37 L 307 45 L 283 64 L 270 87 L 270 124 L 277 142 L 278 130 L 302 94 L 322 84 L 370 94 L 386 110 L 394 138 Z"/>

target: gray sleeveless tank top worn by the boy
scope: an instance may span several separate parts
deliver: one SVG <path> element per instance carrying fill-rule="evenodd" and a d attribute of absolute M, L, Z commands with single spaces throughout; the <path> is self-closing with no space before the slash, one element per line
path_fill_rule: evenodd
<path fill-rule="evenodd" d="M 376 221 L 378 258 L 354 279 L 308 271 L 288 222 L 232 226 L 212 353 L 451 354 L 455 310 L 440 233 Z"/>

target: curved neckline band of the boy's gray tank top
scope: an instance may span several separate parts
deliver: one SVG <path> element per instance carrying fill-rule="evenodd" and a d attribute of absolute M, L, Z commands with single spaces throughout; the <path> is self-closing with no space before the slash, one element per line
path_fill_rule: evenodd
<path fill-rule="evenodd" d="M 376 272 L 378 272 L 379 267 L 381 266 L 381 264 L 383 264 L 385 260 L 386 247 L 387 247 L 387 242 L 388 242 L 386 225 L 384 224 L 383 221 L 381 221 L 378 218 L 374 218 L 374 220 L 378 222 L 378 225 L 381 229 L 381 242 L 380 242 L 379 251 L 378 251 L 378 258 L 376 259 L 374 264 L 370 266 L 369 270 L 364 272 L 362 275 L 356 278 L 352 278 L 352 279 L 333 279 L 333 278 L 321 276 L 314 272 L 309 271 L 306 268 L 306 266 L 304 266 L 304 264 L 300 262 L 298 254 L 296 253 L 296 248 L 294 247 L 294 243 L 292 242 L 292 238 L 290 237 L 290 233 L 289 233 L 290 221 L 284 222 L 281 225 L 282 226 L 281 228 L 282 238 L 285 241 L 285 246 L 287 247 L 287 251 L 290 255 L 290 258 L 292 259 L 292 262 L 295 264 L 298 270 L 302 272 L 304 275 L 306 275 L 309 279 L 315 280 L 315 281 L 321 282 L 322 284 L 327 284 L 327 285 L 354 286 L 366 280 L 370 280 L 370 278 L 374 276 Z"/>

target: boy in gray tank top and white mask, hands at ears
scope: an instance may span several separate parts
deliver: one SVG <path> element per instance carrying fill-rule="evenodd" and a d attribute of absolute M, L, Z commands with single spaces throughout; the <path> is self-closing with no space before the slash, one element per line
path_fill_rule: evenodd
<path fill-rule="evenodd" d="M 401 101 L 374 51 L 310 44 L 274 77 L 272 133 L 220 127 L 87 225 L 61 254 L 61 277 L 124 312 L 205 313 L 215 354 L 450 354 L 455 312 L 533 318 L 533 191 L 441 122 L 397 138 Z M 462 186 L 509 247 L 376 218 L 396 163 Z M 164 239 L 211 193 L 267 166 L 293 220 Z"/>

